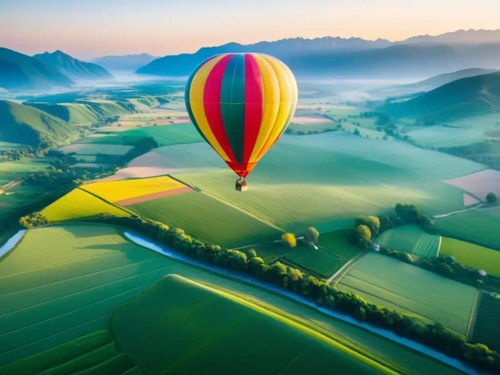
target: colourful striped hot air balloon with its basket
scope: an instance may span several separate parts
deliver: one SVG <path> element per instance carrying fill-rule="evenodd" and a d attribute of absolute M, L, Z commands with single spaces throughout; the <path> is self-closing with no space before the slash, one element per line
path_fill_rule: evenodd
<path fill-rule="evenodd" d="M 286 130 L 297 105 L 290 69 L 261 53 L 223 53 L 199 64 L 184 93 L 189 117 L 203 139 L 244 177 Z"/>

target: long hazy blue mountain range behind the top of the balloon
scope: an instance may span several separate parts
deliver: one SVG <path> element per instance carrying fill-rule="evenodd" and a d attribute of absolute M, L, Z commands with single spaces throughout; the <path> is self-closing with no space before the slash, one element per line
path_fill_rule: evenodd
<path fill-rule="evenodd" d="M 164 56 L 139 68 L 137 73 L 185 76 L 200 61 L 214 54 L 249 51 L 270 53 L 280 58 L 296 75 L 393 77 L 394 74 L 399 74 L 421 77 L 475 66 L 494 68 L 499 65 L 495 56 L 500 53 L 500 44 L 454 48 L 444 44 L 390 45 L 389 43 L 386 46 L 383 40 L 370 43 L 359 42 L 358 47 L 351 45 L 349 48 L 333 47 L 331 43 L 327 47 L 326 44 L 317 43 L 314 39 L 301 39 L 300 43 L 297 43 L 299 46 L 281 40 L 249 45 L 228 43 L 201 48 L 192 54 Z M 429 64 L 429 61 L 432 63 Z"/>

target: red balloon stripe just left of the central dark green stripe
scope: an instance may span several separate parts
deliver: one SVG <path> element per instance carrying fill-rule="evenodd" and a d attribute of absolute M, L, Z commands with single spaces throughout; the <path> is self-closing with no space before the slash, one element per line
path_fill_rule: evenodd
<path fill-rule="evenodd" d="M 206 120 L 212 130 L 215 139 L 220 144 L 230 161 L 236 161 L 234 154 L 227 139 L 220 113 L 220 86 L 227 63 L 234 56 L 234 53 L 222 57 L 210 70 L 203 88 L 203 108 L 205 110 Z"/>

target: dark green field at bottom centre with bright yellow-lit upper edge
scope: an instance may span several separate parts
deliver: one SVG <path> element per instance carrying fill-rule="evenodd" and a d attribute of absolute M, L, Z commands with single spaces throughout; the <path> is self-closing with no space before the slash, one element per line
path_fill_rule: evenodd
<path fill-rule="evenodd" d="M 121 306 L 111 324 L 120 346 L 146 373 L 209 368 L 211 373 L 291 375 L 304 367 L 324 372 L 326 366 L 345 373 L 378 373 L 375 368 L 389 373 L 357 353 L 335 350 L 326 337 L 321 342 L 304 333 L 305 327 L 177 275 Z M 242 353 L 251 360 L 242 361 Z"/>

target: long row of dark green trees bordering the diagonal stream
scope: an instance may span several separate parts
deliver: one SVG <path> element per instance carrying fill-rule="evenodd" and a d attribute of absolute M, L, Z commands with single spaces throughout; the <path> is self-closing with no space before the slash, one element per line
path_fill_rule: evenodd
<path fill-rule="evenodd" d="M 490 350 L 486 345 L 467 342 L 463 335 L 446 329 L 440 323 L 430 323 L 418 317 L 369 302 L 354 293 L 340 291 L 336 287 L 330 286 L 325 279 L 314 277 L 279 261 L 265 264 L 264 260 L 253 249 L 243 252 L 224 249 L 215 244 L 206 244 L 188 235 L 180 228 L 169 227 L 166 224 L 138 215 L 117 217 L 99 214 L 84 220 L 129 228 L 188 256 L 248 273 L 260 280 L 271 282 L 310 298 L 318 306 L 391 330 L 400 336 L 420 342 L 476 368 L 493 373 L 500 371 L 500 354 Z M 32 215 L 31 224 L 37 225 L 37 223 L 43 224 L 44 222 L 43 217 L 37 214 Z"/>

